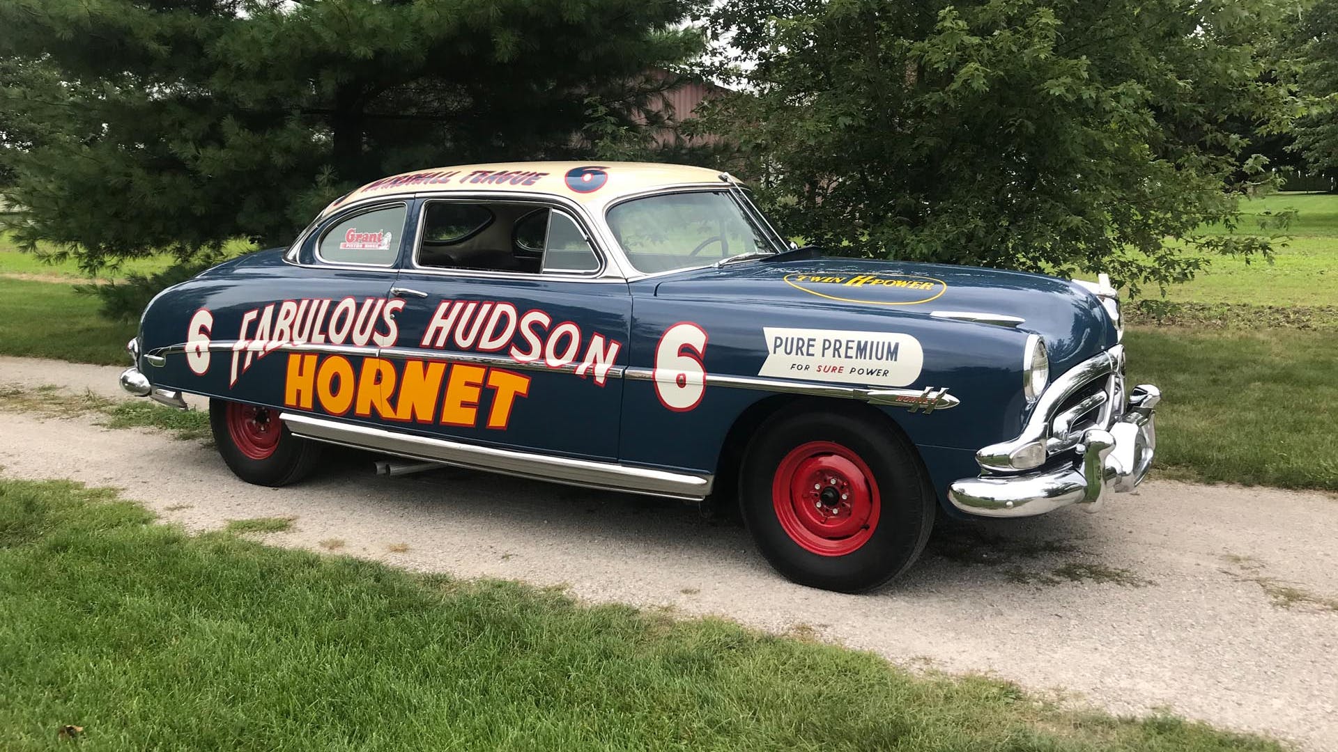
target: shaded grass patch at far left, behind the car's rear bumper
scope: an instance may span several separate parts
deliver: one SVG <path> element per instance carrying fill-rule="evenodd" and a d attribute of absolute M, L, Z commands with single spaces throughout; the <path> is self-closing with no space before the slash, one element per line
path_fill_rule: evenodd
<path fill-rule="evenodd" d="M 98 298 L 70 285 L 0 278 L 0 355 L 130 365 L 135 329 L 98 316 Z"/>

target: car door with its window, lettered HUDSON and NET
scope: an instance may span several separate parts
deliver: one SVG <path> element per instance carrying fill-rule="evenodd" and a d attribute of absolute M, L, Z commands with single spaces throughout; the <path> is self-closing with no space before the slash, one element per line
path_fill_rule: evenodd
<path fill-rule="evenodd" d="M 574 207 L 431 198 L 381 351 L 403 430 L 615 459 L 632 297 Z"/>

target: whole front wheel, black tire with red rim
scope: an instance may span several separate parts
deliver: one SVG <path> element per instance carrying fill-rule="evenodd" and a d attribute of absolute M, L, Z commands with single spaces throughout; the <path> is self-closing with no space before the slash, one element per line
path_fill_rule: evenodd
<path fill-rule="evenodd" d="M 797 464 L 795 456 L 801 458 Z M 868 471 L 872 484 L 862 470 Z M 860 471 L 858 476 L 855 471 Z M 815 474 L 830 478 L 815 483 L 823 486 L 820 491 L 800 495 L 796 490 L 809 494 L 809 486 L 799 479 L 811 482 Z M 784 479 L 777 480 L 781 475 Z M 858 504 L 860 483 L 868 492 Z M 780 500 L 773 494 L 777 486 L 783 488 Z M 827 488 L 836 490 L 836 495 Z M 839 500 L 846 498 L 840 490 L 848 491 L 856 507 Z M 809 500 L 816 514 L 808 511 Z M 887 417 L 860 405 L 797 403 L 759 427 L 740 472 L 740 507 L 757 549 L 783 575 L 809 587 L 860 593 L 891 581 L 915 562 L 934 529 L 938 500 L 919 454 Z M 876 518 L 860 511 L 875 508 Z M 808 525 L 803 522 L 805 515 Z M 812 519 L 819 519 L 816 525 L 827 521 L 847 527 L 860 525 L 860 519 L 864 523 L 848 535 L 823 539 L 812 533 Z M 787 525 L 797 525 L 797 534 L 788 533 Z M 827 534 L 835 529 L 819 530 Z"/>

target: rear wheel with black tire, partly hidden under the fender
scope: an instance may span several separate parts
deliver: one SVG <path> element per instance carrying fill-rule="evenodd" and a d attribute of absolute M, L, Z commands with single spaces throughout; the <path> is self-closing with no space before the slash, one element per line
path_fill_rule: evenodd
<path fill-rule="evenodd" d="M 272 436 L 261 436 L 261 448 L 254 442 L 246 446 L 246 435 L 237 435 L 229 427 L 230 415 L 237 420 L 237 412 L 248 409 L 261 412 L 262 423 L 273 426 L 268 430 L 276 431 Z M 278 411 L 273 409 L 210 399 L 209 426 L 214 431 L 214 444 L 227 468 L 242 480 L 257 486 L 288 486 L 306 478 L 320 463 L 324 451 L 320 443 L 294 436 L 288 426 L 278 420 Z"/>

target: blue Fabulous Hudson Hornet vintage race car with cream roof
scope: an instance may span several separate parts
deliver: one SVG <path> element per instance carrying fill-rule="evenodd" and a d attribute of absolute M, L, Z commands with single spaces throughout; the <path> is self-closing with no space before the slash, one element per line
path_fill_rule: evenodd
<path fill-rule="evenodd" d="M 858 591 L 954 516 L 1094 510 L 1147 475 L 1101 282 L 822 257 L 728 174 L 470 165 L 365 185 L 286 249 L 162 292 L 132 395 L 210 399 L 244 480 L 343 444 L 737 499 L 785 577 Z M 432 464 L 425 464 L 432 467 Z"/>

